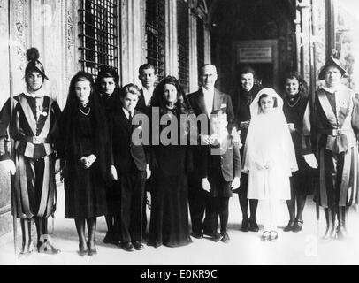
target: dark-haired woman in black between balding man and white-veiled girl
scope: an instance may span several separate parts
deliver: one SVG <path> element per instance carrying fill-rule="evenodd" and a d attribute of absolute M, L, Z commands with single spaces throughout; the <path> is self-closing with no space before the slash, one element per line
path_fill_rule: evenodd
<path fill-rule="evenodd" d="M 233 93 L 233 108 L 235 119 L 237 120 L 239 129 L 241 130 L 241 142 L 246 143 L 248 126 L 250 122 L 249 106 L 255 99 L 258 92 L 263 88 L 262 84 L 256 78 L 255 70 L 250 66 L 242 66 L 240 70 L 240 86 L 239 89 Z M 244 147 L 241 148 L 241 156 L 243 156 Z M 241 187 L 239 190 L 234 190 L 238 193 L 240 200 L 242 222 L 241 231 L 243 232 L 258 232 L 259 227 L 256 224 L 256 208 L 258 200 L 248 200 L 248 174 L 241 175 Z M 248 202 L 250 217 L 248 218 Z"/>

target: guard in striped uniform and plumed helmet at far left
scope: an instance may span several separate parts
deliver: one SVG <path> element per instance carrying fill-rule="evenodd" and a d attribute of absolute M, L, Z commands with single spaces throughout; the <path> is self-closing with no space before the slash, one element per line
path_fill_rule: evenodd
<path fill-rule="evenodd" d="M 20 218 L 21 254 L 33 251 L 32 227 L 37 230 L 38 252 L 57 254 L 48 235 L 48 218 L 56 210 L 55 171 L 59 171 L 55 144 L 60 108 L 46 96 L 42 87 L 48 80 L 38 50 L 27 50 L 25 70 L 27 90 L 9 99 L 0 112 L 0 161 L 10 160 L 7 142 L 12 140 L 14 154 L 7 164 L 15 166 L 12 189 L 15 192 L 14 217 Z M 12 108 L 12 109 L 11 109 Z M 11 116 L 12 112 L 12 116 Z"/>

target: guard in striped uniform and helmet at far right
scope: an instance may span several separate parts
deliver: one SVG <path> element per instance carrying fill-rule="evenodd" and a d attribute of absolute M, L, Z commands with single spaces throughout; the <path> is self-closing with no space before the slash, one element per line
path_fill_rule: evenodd
<path fill-rule="evenodd" d="M 316 91 L 303 119 L 303 155 L 311 167 L 319 167 L 315 200 L 325 209 L 325 239 L 346 237 L 348 208 L 358 201 L 359 95 L 341 83 L 345 75 L 340 62 L 330 57 L 319 73 L 325 88 Z"/>

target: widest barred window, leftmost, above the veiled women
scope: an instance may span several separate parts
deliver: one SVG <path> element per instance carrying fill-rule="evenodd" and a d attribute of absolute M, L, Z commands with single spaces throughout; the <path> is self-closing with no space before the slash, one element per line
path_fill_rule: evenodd
<path fill-rule="evenodd" d="M 80 64 L 97 75 L 103 67 L 118 70 L 118 1 L 81 0 Z"/>

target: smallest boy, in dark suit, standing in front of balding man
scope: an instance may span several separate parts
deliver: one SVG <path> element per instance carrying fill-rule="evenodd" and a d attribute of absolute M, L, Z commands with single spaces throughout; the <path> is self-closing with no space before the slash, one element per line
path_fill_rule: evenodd
<path fill-rule="evenodd" d="M 238 142 L 228 134 L 227 115 L 222 111 L 213 111 L 210 115 L 210 127 L 213 141 L 206 155 L 206 172 L 202 176 L 203 190 L 207 191 L 209 200 L 206 206 L 206 217 L 203 222 L 203 233 L 212 239 L 218 234 L 218 216 L 220 218 L 221 241 L 228 242 L 228 202 L 232 190 L 241 185 L 241 155 Z"/>

